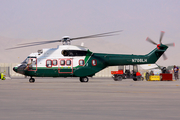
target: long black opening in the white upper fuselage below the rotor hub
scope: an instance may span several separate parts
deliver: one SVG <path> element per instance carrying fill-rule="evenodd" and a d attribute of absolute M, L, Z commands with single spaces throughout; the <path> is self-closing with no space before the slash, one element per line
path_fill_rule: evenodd
<path fill-rule="evenodd" d="M 86 56 L 87 51 L 82 50 L 63 50 L 62 55 L 64 56 Z"/>

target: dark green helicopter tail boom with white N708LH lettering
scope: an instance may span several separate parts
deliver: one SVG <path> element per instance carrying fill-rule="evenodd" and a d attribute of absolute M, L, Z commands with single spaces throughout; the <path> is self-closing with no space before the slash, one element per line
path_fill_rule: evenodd
<path fill-rule="evenodd" d="M 160 49 L 159 49 L 160 48 Z M 125 55 L 125 54 L 102 54 L 107 66 L 118 65 L 134 65 L 134 64 L 153 64 L 163 55 L 167 50 L 166 45 L 160 45 L 146 55 Z"/>

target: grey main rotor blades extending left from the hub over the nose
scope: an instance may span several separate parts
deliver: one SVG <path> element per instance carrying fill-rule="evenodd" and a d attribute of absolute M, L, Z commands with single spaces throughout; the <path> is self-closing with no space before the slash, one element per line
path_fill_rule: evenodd
<path fill-rule="evenodd" d="M 58 41 L 46 41 L 46 42 L 39 42 L 39 43 L 35 42 L 35 44 L 28 43 L 27 45 L 24 44 L 24 45 L 18 46 L 18 47 L 7 48 L 6 50 L 17 49 L 17 48 L 24 48 L 24 47 L 30 47 L 30 46 L 36 46 L 36 45 L 43 45 L 43 44 L 54 43 L 54 42 L 58 42 Z"/>

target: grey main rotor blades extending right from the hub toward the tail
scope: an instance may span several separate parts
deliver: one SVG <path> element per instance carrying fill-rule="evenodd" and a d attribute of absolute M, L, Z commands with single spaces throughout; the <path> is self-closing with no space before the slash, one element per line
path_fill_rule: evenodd
<path fill-rule="evenodd" d="M 71 40 L 77 40 L 77 39 L 87 39 L 87 38 L 114 36 L 114 35 L 117 35 L 117 34 L 114 34 L 114 33 L 119 33 L 119 32 L 122 32 L 122 30 L 113 31 L 113 32 L 107 32 L 107 33 L 101 33 L 101 34 L 88 35 L 88 36 L 83 36 L 83 37 L 70 38 L 70 39 Z"/>

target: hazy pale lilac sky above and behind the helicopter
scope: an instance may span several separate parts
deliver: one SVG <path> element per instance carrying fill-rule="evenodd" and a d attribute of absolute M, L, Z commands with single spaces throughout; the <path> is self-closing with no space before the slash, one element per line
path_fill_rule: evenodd
<path fill-rule="evenodd" d="M 20 63 L 30 53 L 60 43 L 4 50 L 18 43 L 57 40 L 123 30 L 113 37 L 72 42 L 92 52 L 147 54 L 159 43 L 175 43 L 159 65 L 180 65 L 180 0 L 0 0 L 0 62 Z"/>

